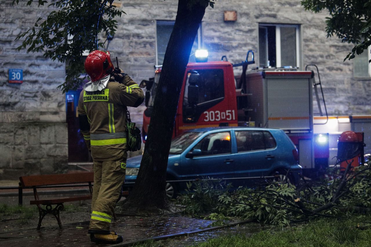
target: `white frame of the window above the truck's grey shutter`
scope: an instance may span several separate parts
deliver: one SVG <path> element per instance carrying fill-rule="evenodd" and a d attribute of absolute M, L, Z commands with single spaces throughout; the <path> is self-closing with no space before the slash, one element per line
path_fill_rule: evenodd
<path fill-rule="evenodd" d="M 300 24 L 280 24 L 280 23 L 259 23 L 258 29 L 261 27 L 267 27 L 267 26 L 275 26 L 276 27 L 276 67 L 281 67 L 281 27 L 295 27 L 295 51 L 296 51 L 296 67 L 301 67 L 301 25 Z M 259 30 L 258 30 L 259 35 Z M 268 49 L 268 42 L 266 41 L 266 49 Z M 258 37 L 258 50 L 260 50 L 260 42 Z M 267 57 L 266 60 L 268 60 L 268 52 L 266 53 Z M 260 59 L 260 55 L 259 55 Z M 259 61 L 260 64 L 260 61 Z"/>

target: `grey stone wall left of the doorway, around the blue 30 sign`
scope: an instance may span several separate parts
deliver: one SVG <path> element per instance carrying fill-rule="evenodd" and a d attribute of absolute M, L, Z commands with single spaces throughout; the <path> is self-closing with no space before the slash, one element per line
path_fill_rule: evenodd
<path fill-rule="evenodd" d="M 16 51 L 14 39 L 50 10 L 20 1 L 0 2 L 0 180 L 50 174 L 67 168 L 65 65 L 41 53 Z M 23 69 L 23 83 L 8 83 L 8 69 Z"/>

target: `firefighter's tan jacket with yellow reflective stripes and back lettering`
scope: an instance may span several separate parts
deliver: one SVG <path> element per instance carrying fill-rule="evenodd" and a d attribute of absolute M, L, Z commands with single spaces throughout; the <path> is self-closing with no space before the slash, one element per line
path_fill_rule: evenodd
<path fill-rule="evenodd" d="M 119 159 L 127 149 L 127 106 L 138 107 L 144 94 L 127 74 L 119 82 L 109 82 L 105 89 L 82 90 L 78 114 L 80 130 L 93 160 Z"/>

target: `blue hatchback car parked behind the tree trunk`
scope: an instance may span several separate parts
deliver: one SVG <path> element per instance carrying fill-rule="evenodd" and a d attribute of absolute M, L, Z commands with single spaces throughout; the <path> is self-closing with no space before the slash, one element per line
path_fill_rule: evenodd
<path fill-rule="evenodd" d="M 132 187 L 142 156 L 128 158 L 125 187 Z M 279 129 L 219 127 L 192 129 L 171 141 L 166 192 L 174 198 L 197 178 L 219 178 L 233 187 L 253 187 L 267 178 L 296 184 L 298 151 Z"/>

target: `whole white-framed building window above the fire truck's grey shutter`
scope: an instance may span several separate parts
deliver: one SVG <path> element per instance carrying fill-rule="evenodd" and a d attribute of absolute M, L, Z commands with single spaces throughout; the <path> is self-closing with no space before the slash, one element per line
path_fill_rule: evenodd
<path fill-rule="evenodd" d="M 259 24 L 259 67 L 300 67 L 299 25 Z"/>

